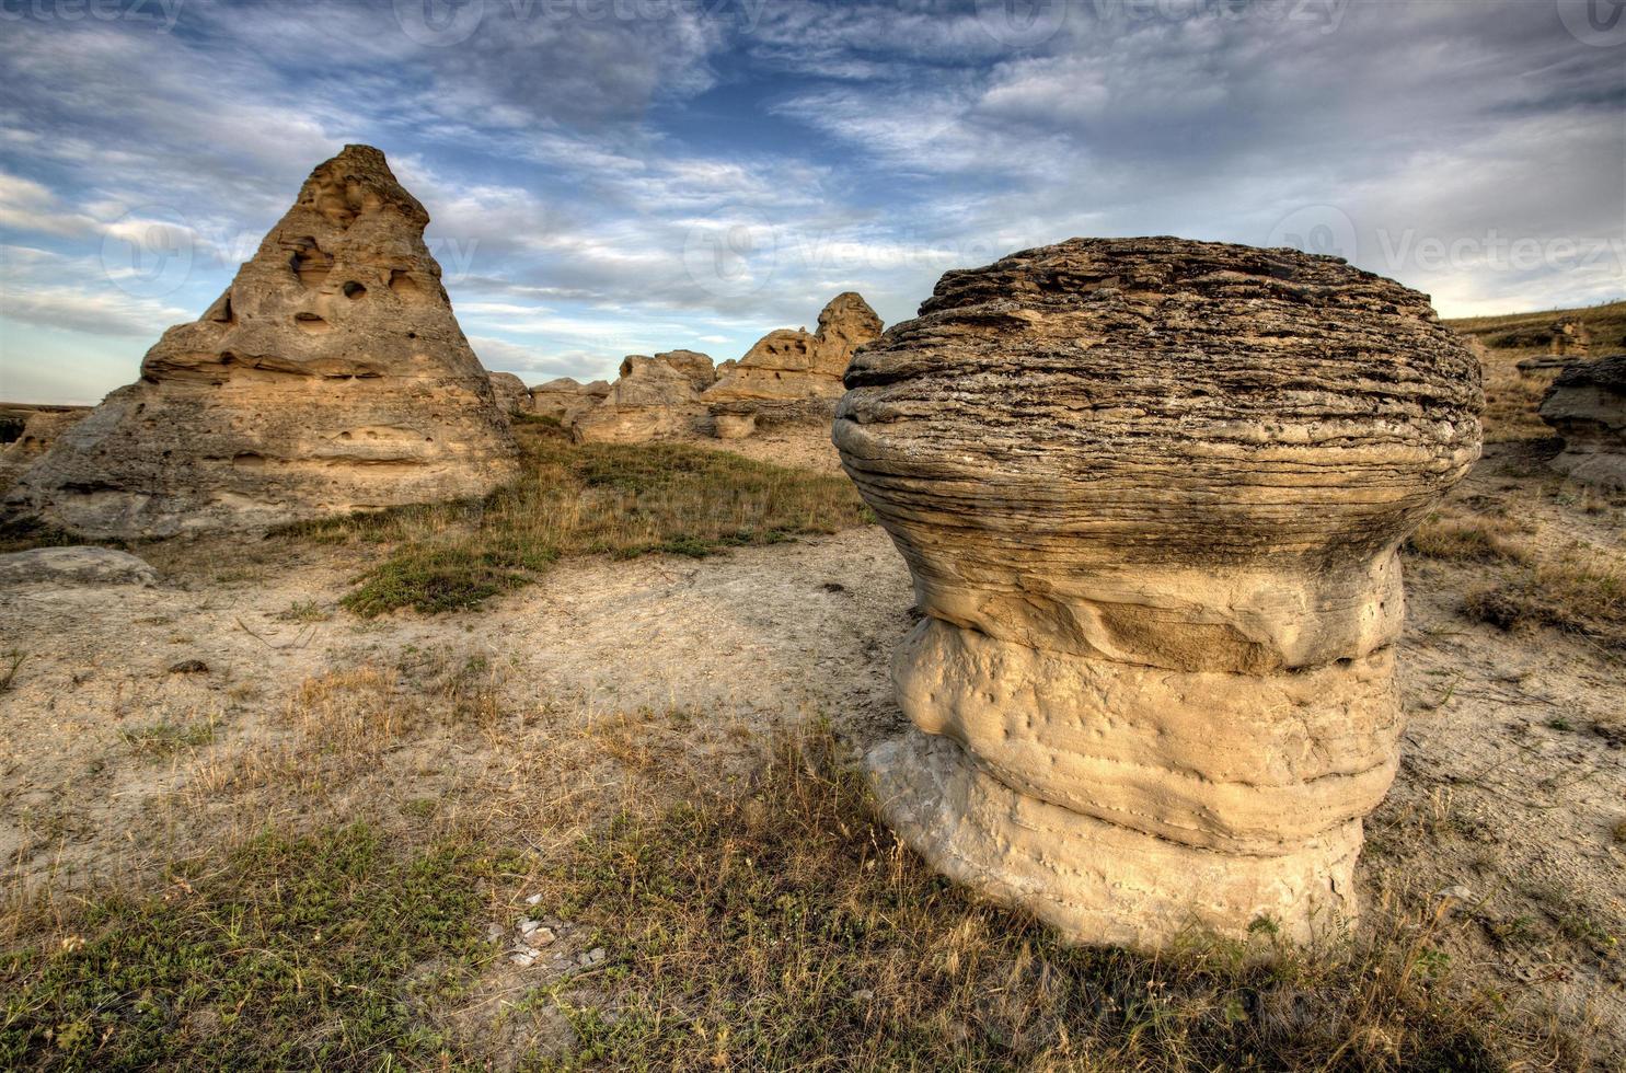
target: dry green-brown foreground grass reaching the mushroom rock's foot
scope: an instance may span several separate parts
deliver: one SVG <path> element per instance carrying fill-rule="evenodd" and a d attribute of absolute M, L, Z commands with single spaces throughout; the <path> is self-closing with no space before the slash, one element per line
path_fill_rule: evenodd
<path fill-rule="evenodd" d="M 367 751 L 345 766 L 359 777 L 393 756 L 380 741 L 431 730 L 392 714 L 402 691 L 376 668 L 328 675 L 301 689 L 288 727 L 328 738 L 324 762 Z M 511 808 L 468 815 L 455 832 L 327 811 L 309 834 L 179 860 L 151 897 L 91 897 L 36 919 L 0 958 L 0 1058 L 335 1070 L 1577 1062 L 1572 1042 L 1457 979 L 1439 914 L 1385 897 L 1369 936 L 1328 936 L 1309 953 L 1268 930 L 1247 943 L 1192 935 L 1158 958 L 1065 948 L 902 849 L 828 732 L 771 749 L 730 787 L 649 762 L 689 719 L 605 722 L 595 736 L 626 758 L 633 792 L 545 854 L 489 849 L 546 834 L 533 819 L 514 828 Z M 426 816 L 444 806 L 416 803 Z M 563 922 L 576 946 L 606 956 L 515 972 L 481 936 L 517 915 Z M 475 997 L 494 980 L 509 980 L 507 998 L 447 1032 L 483 1010 Z M 514 1042 L 512 1023 L 533 1018 L 564 1029 Z"/>

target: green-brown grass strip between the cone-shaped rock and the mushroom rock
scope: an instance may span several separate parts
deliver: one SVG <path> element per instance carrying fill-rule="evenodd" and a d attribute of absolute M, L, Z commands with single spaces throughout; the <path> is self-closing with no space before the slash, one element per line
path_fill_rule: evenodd
<path fill-rule="evenodd" d="M 525 473 L 485 501 L 309 522 L 283 535 L 389 545 L 343 603 L 371 616 L 475 608 L 530 584 L 567 554 L 704 556 L 862 525 L 844 476 L 766 465 L 680 444 L 574 445 L 558 426 L 520 421 Z"/>

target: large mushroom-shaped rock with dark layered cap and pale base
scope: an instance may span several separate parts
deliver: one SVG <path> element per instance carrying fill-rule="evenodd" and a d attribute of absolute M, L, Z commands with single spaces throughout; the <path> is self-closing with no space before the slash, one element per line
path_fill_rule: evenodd
<path fill-rule="evenodd" d="M 870 754 L 902 837 L 1078 941 L 1353 915 L 1397 548 L 1480 452 L 1428 298 L 1073 239 L 946 273 L 846 385 L 836 445 L 925 613 L 893 665 L 919 732 Z"/>

